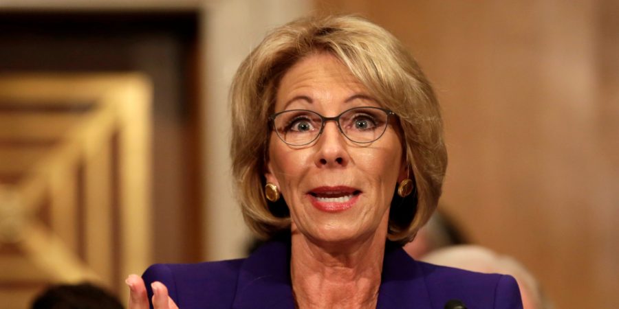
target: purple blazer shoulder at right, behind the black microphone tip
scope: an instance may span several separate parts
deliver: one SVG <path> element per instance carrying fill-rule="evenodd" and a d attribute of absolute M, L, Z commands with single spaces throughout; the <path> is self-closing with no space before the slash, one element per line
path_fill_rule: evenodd
<path fill-rule="evenodd" d="M 437 308 L 450 299 L 459 299 L 469 308 L 522 309 L 518 284 L 510 275 L 418 263 Z"/>

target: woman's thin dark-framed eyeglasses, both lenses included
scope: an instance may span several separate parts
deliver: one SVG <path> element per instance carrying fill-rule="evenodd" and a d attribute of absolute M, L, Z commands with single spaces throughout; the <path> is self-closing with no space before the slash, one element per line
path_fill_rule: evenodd
<path fill-rule="evenodd" d="M 304 146 L 318 139 L 325 123 L 334 121 L 340 132 L 350 141 L 367 144 L 379 139 L 395 113 L 378 107 L 355 107 L 336 117 L 324 117 L 314 111 L 293 109 L 270 115 L 277 136 L 291 146 Z"/>

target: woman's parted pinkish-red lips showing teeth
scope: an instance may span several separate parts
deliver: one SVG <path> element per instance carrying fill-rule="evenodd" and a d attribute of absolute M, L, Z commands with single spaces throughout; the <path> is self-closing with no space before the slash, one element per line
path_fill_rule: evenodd
<path fill-rule="evenodd" d="M 353 187 L 316 187 L 308 192 L 312 205 L 327 212 L 344 211 L 351 208 L 361 194 Z"/>

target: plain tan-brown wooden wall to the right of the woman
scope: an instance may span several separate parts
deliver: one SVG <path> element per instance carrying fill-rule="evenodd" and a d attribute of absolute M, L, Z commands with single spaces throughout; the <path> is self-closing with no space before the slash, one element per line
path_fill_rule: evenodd
<path fill-rule="evenodd" d="M 410 47 L 444 110 L 444 210 L 556 308 L 619 304 L 617 2 L 315 1 Z"/>

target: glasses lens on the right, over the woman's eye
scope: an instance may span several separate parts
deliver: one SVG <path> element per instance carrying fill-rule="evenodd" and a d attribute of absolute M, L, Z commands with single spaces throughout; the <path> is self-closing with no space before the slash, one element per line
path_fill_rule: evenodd
<path fill-rule="evenodd" d="M 370 143 L 382 136 L 389 116 L 380 108 L 358 107 L 340 115 L 340 128 L 351 141 Z"/>

